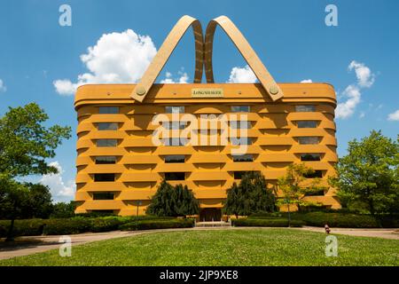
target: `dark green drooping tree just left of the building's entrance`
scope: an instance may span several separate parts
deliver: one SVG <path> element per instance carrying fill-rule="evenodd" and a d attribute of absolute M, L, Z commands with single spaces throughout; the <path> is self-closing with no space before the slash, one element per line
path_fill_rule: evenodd
<path fill-rule="evenodd" d="M 172 186 L 166 180 L 162 180 L 147 212 L 168 217 L 194 215 L 200 212 L 199 204 L 186 185 Z"/>

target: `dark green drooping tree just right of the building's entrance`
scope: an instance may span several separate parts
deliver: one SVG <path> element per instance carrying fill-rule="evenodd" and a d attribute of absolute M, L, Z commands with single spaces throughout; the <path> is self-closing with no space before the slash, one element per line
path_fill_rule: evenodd
<path fill-rule="evenodd" d="M 233 183 L 227 190 L 223 213 L 238 217 L 254 213 L 273 212 L 276 207 L 276 195 L 268 188 L 266 179 L 258 171 L 248 171 L 239 185 Z"/>

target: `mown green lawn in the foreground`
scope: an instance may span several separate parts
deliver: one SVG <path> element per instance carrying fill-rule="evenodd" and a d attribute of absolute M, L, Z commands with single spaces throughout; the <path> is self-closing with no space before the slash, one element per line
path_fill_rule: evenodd
<path fill-rule="evenodd" d="M 339 256 L 325 256 L 325 234 L 294 229 L 148 233 L 0 261 L 0 265 L 399 265 L 399 241 L 337 235 Z"/>

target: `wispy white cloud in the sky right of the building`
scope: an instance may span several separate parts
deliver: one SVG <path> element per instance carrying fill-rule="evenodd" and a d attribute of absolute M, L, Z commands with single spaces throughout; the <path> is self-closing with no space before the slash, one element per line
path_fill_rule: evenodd
<path fill-rule="evenodd" d="M 355 70 L 357 82 L 348 85 L 342 95 L 347 100 L 340 102 L 335 110 L 337 118 L 348 118 L 355 113 L 356 106 L 360 103 L 362 99 L 361 90 L 364 88 L 372 87 L 374 83 L 375 75 L 369 67 L 366 67 L 364 63 L 359 63 L 353 60 L 348 66 L 348 70 Z"/>

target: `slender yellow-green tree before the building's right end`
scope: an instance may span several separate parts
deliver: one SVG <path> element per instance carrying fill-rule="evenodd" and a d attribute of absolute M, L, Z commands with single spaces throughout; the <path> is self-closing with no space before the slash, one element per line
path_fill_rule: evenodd
<path fill-rule="evenodd" d="M 291 222 L 290 204 L 294 204 L 298 210 L 301 206 L 314 204 L 306 201 L 304 198 L 307 193 L 314 193 L 323 189 L 320 187 L 320 179 L 313 178 L 310 184 L 307 184 L 307 176 L 311 176 L 314 170 L 305 166 L 303 163 L 292 163 L 286 169 L 286 175 L 278 178 L 278 188 L 281 190 L 283 198 L 280 204 L 286 205 L 288 210 L 288 224 Z"/>

